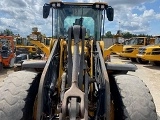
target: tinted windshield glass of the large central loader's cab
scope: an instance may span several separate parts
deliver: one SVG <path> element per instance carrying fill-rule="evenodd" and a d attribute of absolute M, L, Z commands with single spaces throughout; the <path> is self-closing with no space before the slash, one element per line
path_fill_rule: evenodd
<path fill-rule="evenodd" d="M 65 5 L 61 9 L 55 9 L 54 35 L 56 38 L 67 35 L 68 28 L 81 24 L 88 34 L 95 40 L 101 39 L 102 11 L 93 9 L 92 6 Z"/>

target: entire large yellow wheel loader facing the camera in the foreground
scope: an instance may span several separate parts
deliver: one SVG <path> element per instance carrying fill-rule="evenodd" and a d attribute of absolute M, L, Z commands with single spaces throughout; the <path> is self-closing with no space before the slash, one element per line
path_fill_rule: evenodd
<path fill-rule="evenodd" d="M 117 74 L 135 71 L 136 66 L 104 61 L 102 23 L 105 18 L 113 21 L 113 8 L 101 2 L 52 1 L 43 6 L 44 18 L 50 9 L 56 29 L 49 58 L 41 63 L 24 61 L 26 70 L 5 79 L 0 86 L 0 118 L 156 120 L 153 98 L 142 80 Z M 86 29 L 90 30 L 88 38 Z M 42 71 L 29 71 L 31 68 Z"/>

